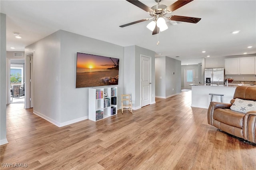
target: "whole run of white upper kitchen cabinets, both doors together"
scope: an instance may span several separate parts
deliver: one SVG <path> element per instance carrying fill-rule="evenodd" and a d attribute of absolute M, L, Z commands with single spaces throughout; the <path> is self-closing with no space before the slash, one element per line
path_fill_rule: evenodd
<path fill-rule="evenodd" d="M 225 74 L 256 74 L 256 57 L 237 57 L 225 59 Z"/>

